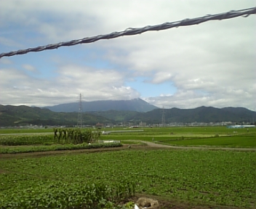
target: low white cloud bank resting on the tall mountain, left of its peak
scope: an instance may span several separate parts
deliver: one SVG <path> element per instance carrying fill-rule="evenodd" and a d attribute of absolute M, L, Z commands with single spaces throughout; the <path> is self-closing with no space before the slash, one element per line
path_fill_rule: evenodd
<path fill-rule="evenodd" d="M 29 68 L 27 66 L 27 68 Z M 78 94 L 86 101 L 105 99 L 135 99 L 140 94 L 127 86 L 121 73 L 114 70 L 95 70 L 76 65 L 60 67 L 57 77 L 44 80 L 26 75 L 20 70 L 2 69 L 1 104 L 47 106 L 76 102 Z"/>

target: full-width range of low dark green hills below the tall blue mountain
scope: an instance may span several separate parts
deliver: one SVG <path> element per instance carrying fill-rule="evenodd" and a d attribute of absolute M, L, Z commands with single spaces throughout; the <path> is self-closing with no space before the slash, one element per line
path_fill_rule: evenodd
<path fill-rule="evenodd" d="M 131 101 L 128 101 L 127 104 L 131 104 Z M 140 100 L 138 101 L 141 102 Z M 124 103 L 121 102 L 121 104 Z M 129 105 L 127 104 L 124 106 L 128 107 Z M 104 108 L 102 107 L 102 109 Z M 244 107 L 215 108 L 204 106 L 194 109 L 172 108 L 161 110 L 156 108 L 148 112 L 130 110 L 92 111 L 83 112 L 82 118 L 84 125 L 95 125 L 96 123 L 133 123 L 136 125 L 140 122 L 158 124 L 161 123 L 163 114 L 165 123 L 218 123 L 223 121 L 255 123 L 256 119 L 256 112 L 247 110 Z M 25 126 L 29 124 L 42 126 L 76 126 L 77 120 L 77 110 L 76 112 L 53 112 L 48 109 L 27 107 L 24 105 L 0 105 L 0 126 Z"/>

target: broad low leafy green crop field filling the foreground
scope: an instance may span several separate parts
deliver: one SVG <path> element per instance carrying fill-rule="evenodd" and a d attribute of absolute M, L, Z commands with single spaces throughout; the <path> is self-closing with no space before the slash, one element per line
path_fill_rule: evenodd
<path fill-rule="evenodd" d="M 79 205 L 86 202 L 81 191 L 93 187 L 88 185 L 129 182 L 141 194 L 254 208 L 255 159 L 256 152 L 166 149 L 1 159 L 0 205 Z"/>

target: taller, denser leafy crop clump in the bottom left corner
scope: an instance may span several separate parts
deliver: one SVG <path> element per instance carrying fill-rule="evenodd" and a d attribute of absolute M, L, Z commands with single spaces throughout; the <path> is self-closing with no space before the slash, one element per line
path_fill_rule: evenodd
<path fill-rule="evenodd" d="M 135 195 L 135 184 L 66 184 L 55 182 L 27 189 L 10 189 L 0 194 L 0 208 L 114 208 Z"/>

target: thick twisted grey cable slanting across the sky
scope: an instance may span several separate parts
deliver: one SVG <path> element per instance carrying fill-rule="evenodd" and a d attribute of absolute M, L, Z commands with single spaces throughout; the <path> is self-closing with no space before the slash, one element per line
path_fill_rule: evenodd
<path fill-rule="evenodd" d="M 46 46 L 37 46 L 34 48 L 29 49 L 21 49 L 14 52 L 8 52 L 8 53 L 1 53 L 1 57 L 10 57 L 17 54 L 26 54 L 28 52 L 41 52 L 47 49 L 57 49 L 60 46 L 73 46 L 76 44 L 89 44 L 95 41 L 99 41 L 100 39 L 111 39 L 111 38 L 117 38 L 119 36 L 132 36 L 137 35 L 140 33 L 145 33 L 150 30 L 166 30 L 169 28 L 177 28 L 180 26 L 188 26 L 188 25 L 197 25 L 202 22 L 207 22 L 209 20 L 225 20 L 225 19 L 231 19 L 233 17 L 248 17 L 249 15 L 256 14 L 256 7 L 252 7 L 249 9 L 240 9 L 240 10 L 232 10 L 230 12 L 220 13 L 216 15 L 205 15 L 203 17 L 196 17 L 193 19 L 185 19 L 185 20 L 179 20 L 175 22 L 164 22 L 161 25 L 148 25 L 143 28 L 127 28 L 126 30 L 120 31 L 120 32 L 113 32 L 108 33 L 105 35 L 99 35 L 99 36 L 92 36 L 87 38 L 81 38 L 78 40 L 73 41 L 66 41 L 66 42 L 60 42 L 58 44 L 49 44 Z"/>

